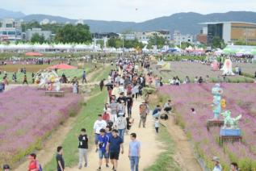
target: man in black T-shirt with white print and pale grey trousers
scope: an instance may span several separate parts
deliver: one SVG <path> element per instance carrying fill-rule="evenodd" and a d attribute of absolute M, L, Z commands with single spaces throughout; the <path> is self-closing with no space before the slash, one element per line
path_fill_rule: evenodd
<path fill-rule="evenodd" d="M 78 169 L 82 169 L 82 161 L 85 160 L 85 167 L 87 167 L 87 151 L 88 151 L 88 138 L 86 135 L 86 128 L 81 129 L 81 134 L 78 136 L 78 152 L 79 152 L 79 164 Z"/>

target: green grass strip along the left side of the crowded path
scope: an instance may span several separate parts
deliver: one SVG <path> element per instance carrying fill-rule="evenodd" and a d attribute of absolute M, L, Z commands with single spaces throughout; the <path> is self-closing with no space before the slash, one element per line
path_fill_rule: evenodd
<path fill-rule="evenodd" d="M 93 124 L 97 119 L 97 115 L 101 114 L 103 111 L 103 104 L 107 97 L 107 91 L 104 90 L 101 94 L 90 98 L 86 102 L 86 106 L 82 107 L 82 111 L 78 115 L 78 119 L 73 123 L 73 129 L 69 131 L 62 145 L 64 149 L 64 159 L 66 167 L 72 167 L 78 164 L 78 138 L 75 136 L 80 133 L 82 127 L 86 127 L 87 135 L 89 136 L 90 146 L 92 146 L 94 141 Z M 55 152 L 51 157 L 52 160 L 45 165 L 44 170 L 55 171 L 57 168 L 57 163 L 55 159 Z"/>

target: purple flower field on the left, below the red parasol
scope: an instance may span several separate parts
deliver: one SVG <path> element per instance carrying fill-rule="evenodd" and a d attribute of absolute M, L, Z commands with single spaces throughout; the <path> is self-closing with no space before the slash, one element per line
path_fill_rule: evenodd
<path fill-rule="evenodd" d="M 76 115 L 82 97 L 44 95 L 44 90 L 23 86 L 0 94 L 0 164 L 19 161 L 40 145 L 70 115 Z"/>

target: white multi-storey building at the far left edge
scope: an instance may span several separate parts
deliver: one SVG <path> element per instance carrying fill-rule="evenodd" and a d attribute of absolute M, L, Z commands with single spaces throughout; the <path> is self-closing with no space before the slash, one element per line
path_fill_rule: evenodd
<path fill-rule="evenodd" d="M 21 23 L 15 19 L 3 19 L 0 27 L 0 41 L 15 42 L 22 40 Z"/>

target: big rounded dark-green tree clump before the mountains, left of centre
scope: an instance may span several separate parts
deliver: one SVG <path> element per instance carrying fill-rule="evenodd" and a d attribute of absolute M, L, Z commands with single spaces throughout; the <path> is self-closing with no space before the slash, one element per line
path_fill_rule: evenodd
<path fill-rule="evenodd" d="M 55 40 L 61 43 L 88 43 L 91 42 L 90 27 L 78 24 L 67 24 L 58 29 Z"/>

